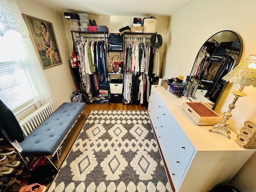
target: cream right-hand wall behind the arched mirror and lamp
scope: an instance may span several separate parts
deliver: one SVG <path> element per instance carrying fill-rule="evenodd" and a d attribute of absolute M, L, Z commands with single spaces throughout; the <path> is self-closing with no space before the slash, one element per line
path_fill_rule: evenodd
<path fill-rule="evenodd" d="M 172 15 L 166 35 L 163 78 L 190 74 L 200 47 L 210 36 L 222 30 L 232 30 L 241 36 L 244 43 L 241 60 L 250 54 L 256 54 L 255 7 L 254 0 L 195 0 Z M 228 84 L 216 112 L 222 114 L 228 110 L 228 105 L 234 98 L 230 91 L 238 90 L 239 87 L 238 84 Z M 232 111 L 233 116 L 228 120 L 230 128 L 236 133 L 246 120 L 256 120 L 256 88 L 246 87 L 244 92 L 248 96 L 239 98 Z M 248 160 L 231 184 L 241 191 L 256 190 L 255 162 L 256 155 Z"/>

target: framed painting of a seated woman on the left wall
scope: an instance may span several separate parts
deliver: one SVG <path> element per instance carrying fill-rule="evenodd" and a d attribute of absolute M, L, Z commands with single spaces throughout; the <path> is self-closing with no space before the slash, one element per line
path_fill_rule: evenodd
<path fill-rule="evenodd" d="M 51 22 L 22 14 L 43 69 L 62 64 Z"/>

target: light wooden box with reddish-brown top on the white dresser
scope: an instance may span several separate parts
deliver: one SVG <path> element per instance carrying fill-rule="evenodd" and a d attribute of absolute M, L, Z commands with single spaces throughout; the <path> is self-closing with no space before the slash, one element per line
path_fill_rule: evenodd
<path fill-rule="evenodd" d="M 202 102 L 184 102 L 182 108 L 198 125 L 215 125 L 222 120 L 219 114 Z"/>

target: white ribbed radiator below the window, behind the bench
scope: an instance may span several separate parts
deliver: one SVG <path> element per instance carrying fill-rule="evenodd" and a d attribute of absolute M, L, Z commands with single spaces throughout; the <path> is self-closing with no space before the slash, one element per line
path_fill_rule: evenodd
<path fill-rule="evenodd" d="M 24 137 L 28 136 L 28 134 L 37 128 L 52 112 L 52 104 L 46 103 L 22 118 L 19 124 Z"/>

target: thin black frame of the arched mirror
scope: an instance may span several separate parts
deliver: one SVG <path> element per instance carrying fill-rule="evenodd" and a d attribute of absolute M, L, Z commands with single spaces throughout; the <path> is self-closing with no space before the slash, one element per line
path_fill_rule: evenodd
<path fill-rule="evenodd" d="M 240 42 L 240 50 L 239 50 L 239 54 L 238 54 L 238 59 L 237 59 L 237 61 L 236 61 L 236 64 L 234 65 L 234 67 L 236 67 L 236 66 L 239 64 L 239 62 L 240 62 L 240 59 L 241 59 L 241 57 L 242 57 L 242 52 L 243 52 L 243 41 L 242 41 L 241 36 L 240 36 L 238 33 L 234 32 L 234 31 L 231 31 L 231 30 L 222 30 L 222 31 L 216 32 L 214 35 L 210 36 L 210 38 L 208 38 L 208 39 L 206 40 L 206 42 L 208 42 L 208 40 L 210 40 L 210 39 L 211 39 L 212 37 L 214 37 L 216 34 L 219 34 L 219 33 L 221 33 L 221 32 L 232 32 L 234 35 L 237 36 L 237 38 L 238 38 L 238 40 L 239 40 L 239 42 Z M 204 42 L 204 44 L 206 44 L 206 42 Z M 224 41 L 222 41 L 222 42 L 224 42 Z M 201 46 L 200 50 L 204 47 L 204 44 Z M 198 55 L 199 55 L 199 53 L 200 53 L 200 50 L 198 51 L 198 54 L 196 55 L 196 59 L 198 58 Z M 195 59 L 195 61 L 194 61 L 194 64 L 196 63 L 196 59 Z M 194 64 L 193 64 L 193 67 L 194 67 Z M 192 67 L 192 70 L 193 70 L 193 67 Z M 191 70 L 191 72 L 190 72 L 190 78 L 191 78 L 192 70 Z M 220 100 L 220 97 L 222 96 L 222 94 L 223 94 L 223 92 L 224 92 L 224 90 L 225 90 L 225 88 L 226 88 L 227 85 L 228 85 L 228 82 L 225 82 L 225 83 L 223 84 L 222 89 L 221 89 L 220 93 L 218 94 L 218 97 L 216 98 L 216 101 L 214 102 L 214 105 L 212 106 L 212 110 L 214 110 L 214 109 L 216 108 L 216 105 L 218 104 L 218 101 Z"/>

